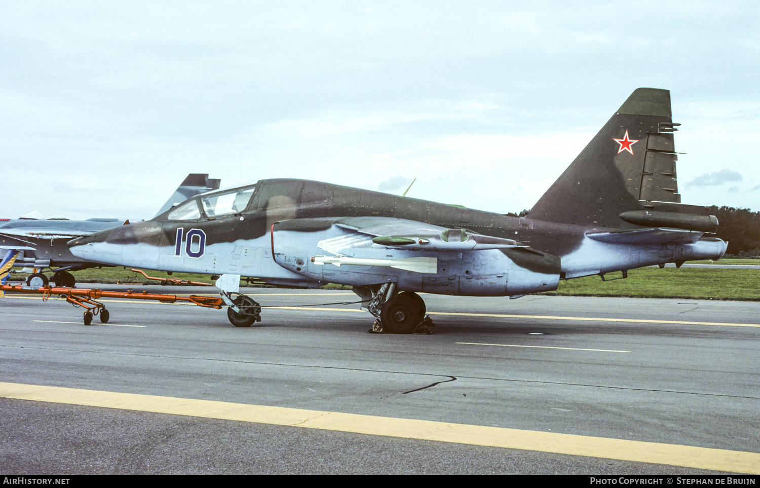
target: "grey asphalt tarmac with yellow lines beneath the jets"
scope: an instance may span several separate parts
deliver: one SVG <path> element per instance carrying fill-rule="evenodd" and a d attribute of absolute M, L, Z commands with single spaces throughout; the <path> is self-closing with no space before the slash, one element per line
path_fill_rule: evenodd
<path fill-rule="evenodd" d="M 760 472 L 760 303 L 424 295 L 433 334 L 392 335 L 326 305 L 351 292 L 243 291 L 267 307 L 252 328 L 0 299 L 0 470 Z"/>

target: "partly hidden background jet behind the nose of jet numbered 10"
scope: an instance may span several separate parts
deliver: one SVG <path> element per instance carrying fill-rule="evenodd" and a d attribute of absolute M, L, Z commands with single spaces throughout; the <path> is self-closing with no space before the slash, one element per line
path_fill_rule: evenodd
<path fill-rule="evenodd" d="M 163 214 L 194 195 L 219 189 L 219 185 L 219 179 L 210 179 L 207 174 L 191 173 L 166 200 L 158 214 Z M 39 288 L 48 284 L 48 277 L 39 271 L 44 268 L 55 269 L 51 279 L 59 287 L 74 287 L 76 281 L 69 271 L 100 264 L 72 255 L 66 242 L 74 237 L 116 227 L 120 223 L 122 221 L 119 219 L 3 219 L 0 220 L 0 249 L 23 251 L 16 255 L 13 266 L 35 268 L 36 271 L 27 278 L 30 287 Z"/>

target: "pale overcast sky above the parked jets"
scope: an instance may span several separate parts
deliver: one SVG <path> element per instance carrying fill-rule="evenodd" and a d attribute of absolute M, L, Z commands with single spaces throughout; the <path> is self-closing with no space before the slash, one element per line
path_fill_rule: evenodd
<path fill-rule="evenodd" d="M 0 14 L 0 217 L 150 218 L 187 173 L 530 208 L 637 87 L 689 204 L 760 210 L 760 2 L 36 2 Z"/>

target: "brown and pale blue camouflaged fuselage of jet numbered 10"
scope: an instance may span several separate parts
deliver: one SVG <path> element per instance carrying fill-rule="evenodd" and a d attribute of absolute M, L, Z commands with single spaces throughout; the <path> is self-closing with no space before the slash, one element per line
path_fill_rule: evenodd
<path fill-rule="evenodd" d="M 71 249 L 82 258 L 110 265 L 241 274 L 271 284 L 360 286 L 394 281 L 401 290 L 473 296 L 553 290 L 560 277 L 718 258 L 725 249 L 722 241 L 708 238 L 695 243 L 648 246 L 599 242 L 586 233 L 609 229 L 493 214 L 295 179 L 258 182 L 248 207 L 235 214 L 215 218 L 201 214 L 193 220 L 171 220 L 169 214 L 76 239 Z M 344 248 L 340 253 L 388 260 L 435 255 L 438 269 L 434 274 L 313 264 L 313 256 L 325 253 L 318 247 L 319 242 L 352 234 L 334 225 L 346 217 L 365 217 L 368 225 L 377 217 L 415 220 L 515 239 L 529 244 L 530 249 L 418 252 L 374 245 Z M 354 218 L 352 223 L 356 222 Z"/>

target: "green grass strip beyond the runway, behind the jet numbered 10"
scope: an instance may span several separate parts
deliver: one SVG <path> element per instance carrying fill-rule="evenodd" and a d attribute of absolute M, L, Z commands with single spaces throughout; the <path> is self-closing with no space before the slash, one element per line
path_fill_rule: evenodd
<path fill-rule="evenodd" d="M 745 260 L 720 260 L 720 263 L 744 264 L 743 262 L 731 263 L 730 261 Z M 749 264 L 758 262 L 752 259 L 746 261 L 750 261 Z M 147 274 L 154 277 L 167 277 L 166 273 L 161 271 L 147 271 Z M 25 280 L 27 276 L 28 274 L 14 273 L 11 275 L 11 280 Z M 50 276 L 49 273 L 48 276 Z M 619 273 L 608 274 L 606 279 L 620 276 Z M 78 284 L 157 283 L 124 268 L 87 269 L 76 271 L 74 277 L 76 277 Z M 175 273 L 172 277 L 212 283 L 207 274 Z M 245 285 L 245 283 L 242 284 Z M 340 288 L 338 285 L 328 286 Z M 345 288 L 350 289 L 350 287 Z M 760 271 L 739 268 L 641 268 L 629 271 L 628 278 L 625 280 L 605 282 L 595 275 L 560 281 L 559 288 L 556 291 L 544 294 L 760 301 Z"/>

